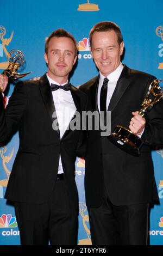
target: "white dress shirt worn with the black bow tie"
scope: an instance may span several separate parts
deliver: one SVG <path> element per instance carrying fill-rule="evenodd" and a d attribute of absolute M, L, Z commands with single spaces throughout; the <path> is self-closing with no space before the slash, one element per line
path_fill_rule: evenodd
<path fill-rule="evenodd" d="M 49 84 L 54 83 L 54 84 L 58 84 L 58 86 L 64 86 L 64 84 L 68 83 L 68 80 L 67 80 L 66 83 L 59 84 L 58 82 L 52 80 L 52 78 L 49 77 L 48 74 L 46 75 L 47 75 Z M 53 91 L 52 95 L 53 95 L 55 111 L 58 119 L 60 138 L 62 138 L 77 108 L 74 105 L 74 101 L 72 99 L 70 90 L 66 91 L 63 89 L 58 89 Z M 64 171 L 62 168 L 62 162 L 61 162 L 61 156 L 60 156 L 58 174 L 61 174 L 61 173 L 64 173 Z"/>

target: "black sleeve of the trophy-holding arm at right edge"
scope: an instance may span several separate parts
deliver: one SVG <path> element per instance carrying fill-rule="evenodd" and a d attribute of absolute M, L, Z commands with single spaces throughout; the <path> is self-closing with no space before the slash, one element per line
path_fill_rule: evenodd
<path fill-rule="evenodd" d="M 146 114 L 142 139 L 149 146 L 163 144 L 163 100 L 161 99 Z"/>

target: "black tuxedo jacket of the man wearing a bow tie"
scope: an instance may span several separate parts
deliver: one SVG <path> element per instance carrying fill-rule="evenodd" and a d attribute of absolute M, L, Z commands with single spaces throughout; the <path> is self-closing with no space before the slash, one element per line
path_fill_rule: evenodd
<path fill-rule="evenodd" d="M 85 110 L 87 96 L 73 86 L 71 94 L 77 111 Z M 67 190 L 78 208 L 74 162 L 82 132 L 66 130 L 60 139 L 59 131 L 52 129 L 55 106 L 47 76 L 40 81 L 19 82 L 5 111 L 2 96 L 0 104 L 1 144 L 7 143 L 17 130 L 20 137 L 5 198 L 35 204 L 46 202 L 55 185 L 61 154 Z"/>

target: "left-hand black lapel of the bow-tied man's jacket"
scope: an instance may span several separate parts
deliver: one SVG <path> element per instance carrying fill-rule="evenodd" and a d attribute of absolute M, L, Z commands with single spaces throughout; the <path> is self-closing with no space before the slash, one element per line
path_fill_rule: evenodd
<path fill-rule="evenodd" d="M 48 78 L 47 78 L 46 74 L 43 75 L 40 78 L 39 85 L 40 85 L 40 93 L 41 93 L 43 102 L 46 105 L 49 117 L 51 118 L 52 123 L 54 121 L 53 125 L 57 124 L 58 123 L 57 122 L 57 117 L 55 117 L 55 118 L 52 117 L 52 115 L 53 115 L 53 113 L 55 111 L 55 106 L 54 106 L 54 101 L 53 101 L 53 95 L 52 95 L 52 92 L 51 92 L 51 87 L 50 87 L 50 84 L 49 84 L 49 81 L 48 81 Z M 58 135 L 60 137 L 59 128 L 57 129 L 57 127 L 56 127 L 55 130 L 57 130 Z"/>

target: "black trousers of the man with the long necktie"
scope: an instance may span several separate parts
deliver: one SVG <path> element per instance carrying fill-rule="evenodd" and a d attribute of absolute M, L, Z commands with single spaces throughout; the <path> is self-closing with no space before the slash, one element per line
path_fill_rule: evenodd
<path fill-rule="evenodd" d="M 92 245 L 147 245 L 149 204 L 113 205 L 103 197 L 88 208 Z"/>

